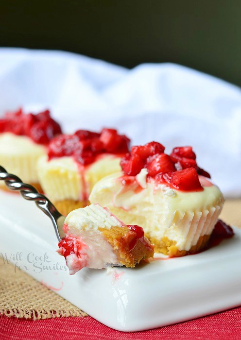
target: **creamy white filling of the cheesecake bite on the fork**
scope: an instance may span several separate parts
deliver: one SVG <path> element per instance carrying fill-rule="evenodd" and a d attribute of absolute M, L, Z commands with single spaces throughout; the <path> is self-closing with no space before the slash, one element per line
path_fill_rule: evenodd
<path fill-rule="evenodd" d="M 110 264 L 121 265 L 99 228 L 110 229 L 122 225 L 121 221 L 98 204 L 71 211 L 64 226 L 66 237 L 71 238 L 74 244 L 74 253 L 66 257 L 69 273 L 74 274 L 83 267 L 101 269 Z M 63 255 L 61 248 L 58 252 Z"/>

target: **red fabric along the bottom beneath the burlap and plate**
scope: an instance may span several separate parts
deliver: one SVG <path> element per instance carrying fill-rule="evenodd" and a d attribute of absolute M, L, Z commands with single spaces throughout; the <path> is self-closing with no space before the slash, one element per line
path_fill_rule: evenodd
<path fill-rule="evenodd" d="M 149 331 L 113 330 L 90 316 L 23 320 L 0 317 L 0 340 L 241 340 L 241 307 Z"/>

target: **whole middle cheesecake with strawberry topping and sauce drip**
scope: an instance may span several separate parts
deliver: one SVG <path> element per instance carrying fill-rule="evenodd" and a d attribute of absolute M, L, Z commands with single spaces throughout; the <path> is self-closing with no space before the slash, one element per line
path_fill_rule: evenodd
<path fill-rule="evenodd" d="M 94 184 L 121 171 L 121 157 L 129 151 L 129 143 L 129 138 L 113 129 L 78 130 L 52 139 L 48 155 L 38 162 L 44 192 L 65 216 L 86 206 Z"/>

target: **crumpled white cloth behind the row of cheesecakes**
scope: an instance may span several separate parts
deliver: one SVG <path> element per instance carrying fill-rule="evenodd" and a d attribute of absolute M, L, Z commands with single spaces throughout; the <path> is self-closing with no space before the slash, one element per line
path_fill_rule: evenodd
<path fill-rule="evenodd" d="M 132 144 L 192 145 L 226 197 L 241 197 L 241 89 L 174 64 L 131 70 L 63 51 L 0 49 L 0 112 L 50 108 L 66 132 L 115 127 Z"/>

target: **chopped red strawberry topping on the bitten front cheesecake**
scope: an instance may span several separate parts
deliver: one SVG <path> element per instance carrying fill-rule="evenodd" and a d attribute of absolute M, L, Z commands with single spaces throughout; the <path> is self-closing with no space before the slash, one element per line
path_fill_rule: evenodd
<path fill-rule="evenodd" d="M 165 184 L 173 189 L 202 191 L 203 186 L 212 185 L 204 179 L 204 176 L 210 178 L 210 175 L 198 167 L 196 155 L 190 146 L 176 147 L 170 155 L 164 153 L 164 150 L 165 147 L 158 142 L 132 147 L 131 152 L 126 153 L 121 159 L 121 168 L 124 172 L 121 183 L 123 185 L 133 183 L 132 178 L 145 168 L 148 170 L 147 179 L 152 178 L 156 183 Z"/>

